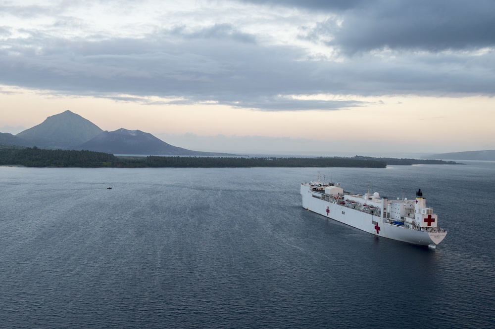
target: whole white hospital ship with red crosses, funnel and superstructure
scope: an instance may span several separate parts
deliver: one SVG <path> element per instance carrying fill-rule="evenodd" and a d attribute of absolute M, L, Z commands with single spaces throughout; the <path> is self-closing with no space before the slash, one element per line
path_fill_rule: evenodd
<path fill-rule="evenodd" d="M 435 248 L 447 235 L 421 189 L 415 200 L 389 200 L 377 192 L 349 194 L 318 178 L 301 184 L 301 196 L 305 209 L 376 236 Z"/>

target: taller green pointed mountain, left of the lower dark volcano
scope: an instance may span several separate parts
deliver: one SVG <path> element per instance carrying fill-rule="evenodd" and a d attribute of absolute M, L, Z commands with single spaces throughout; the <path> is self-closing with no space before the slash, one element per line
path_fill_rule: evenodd
<path fill-rule="evenodd" d="M 43 123 L 19 132 L 16 137 L 26 140 L 29 146 L 45 149 L 71 149 L 103 130 L 78 114 L 67 110 L 48 117 Z"/>

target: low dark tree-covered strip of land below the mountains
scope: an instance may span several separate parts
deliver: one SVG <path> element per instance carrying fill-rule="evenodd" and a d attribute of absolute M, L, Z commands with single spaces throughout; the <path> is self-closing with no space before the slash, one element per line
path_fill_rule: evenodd
<path fill-rule="evenodd" d="M 34 148 L 0 149 L 0 165 L 28 167 L 361 167 L 385 168 L 387 164 L 455 164 L 452 161 L 390 158 L 235 158 L 235 157 L 122 157 L 113 154 Z"/>

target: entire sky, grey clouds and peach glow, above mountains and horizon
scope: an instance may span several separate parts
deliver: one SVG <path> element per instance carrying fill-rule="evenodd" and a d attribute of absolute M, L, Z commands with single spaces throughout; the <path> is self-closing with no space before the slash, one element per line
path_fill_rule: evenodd
<path fill-rule="evenodd" d="M 495 149 L 492 0 L 0 0 L 0 132 L 70 110 L 243 154 Z"/>

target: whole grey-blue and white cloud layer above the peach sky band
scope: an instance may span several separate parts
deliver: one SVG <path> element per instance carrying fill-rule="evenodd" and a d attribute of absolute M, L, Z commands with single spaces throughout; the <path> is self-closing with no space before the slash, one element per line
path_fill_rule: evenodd
<path fill-rule="evenodd" d="M 493 96 L 494 12 L 488 0 L 1 1 L 0 84 L 266 111 Z"/>

